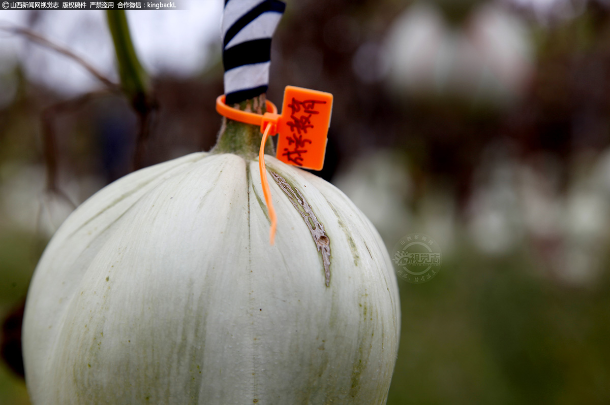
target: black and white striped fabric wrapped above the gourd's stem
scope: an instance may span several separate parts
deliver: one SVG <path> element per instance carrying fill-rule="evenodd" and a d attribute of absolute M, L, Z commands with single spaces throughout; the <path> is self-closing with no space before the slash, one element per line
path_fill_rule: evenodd
<path fill-rule="evenodd" d="M 225 0 L 223 65 L 226 104 L 267 91 L 271 37 L 285 10 L 278 0 Z"/>

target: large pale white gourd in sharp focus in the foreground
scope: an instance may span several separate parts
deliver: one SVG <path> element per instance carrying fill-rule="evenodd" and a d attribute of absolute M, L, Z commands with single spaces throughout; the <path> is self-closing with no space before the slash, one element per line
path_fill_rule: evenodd
<path fill-rule="evenodd" d="M 32 403 L 386 402 L 387 250 L 339 189 L 266 160 L 274 245 L 257 160 L 232 153 L 134 172 L 68 217 L 27 298 Z"/>

